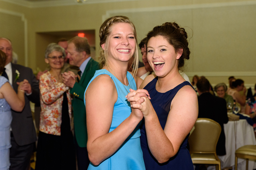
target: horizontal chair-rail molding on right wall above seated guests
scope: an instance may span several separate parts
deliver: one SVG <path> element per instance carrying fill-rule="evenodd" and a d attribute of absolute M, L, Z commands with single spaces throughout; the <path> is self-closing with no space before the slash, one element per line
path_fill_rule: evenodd
<path fill-rule="evenodd" d="M 245 76 L 245 77 L 255 77 L 256 71 L 223 71 L 223 72 L 186 72 L 186 75 L 193 77 L 194 75 L 198 76 L 207 76 L 207 77 L 226 77 L 226 76 Z"/>

